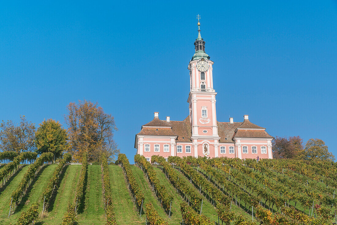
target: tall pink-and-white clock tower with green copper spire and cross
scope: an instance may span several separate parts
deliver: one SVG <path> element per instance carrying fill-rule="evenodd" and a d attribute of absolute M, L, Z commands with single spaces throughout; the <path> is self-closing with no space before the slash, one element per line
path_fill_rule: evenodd
<path fill-rule="evenodd" d="M 194 157 L 218 157 L 219 135 L 216 120 L 213 89 L 213 61 L 205 52 L 205 41 L 200 34 L 198 15 L 198 37 L 194 41 L 195 53 L 188 64 L 190 71 L 189 103 Z"/>

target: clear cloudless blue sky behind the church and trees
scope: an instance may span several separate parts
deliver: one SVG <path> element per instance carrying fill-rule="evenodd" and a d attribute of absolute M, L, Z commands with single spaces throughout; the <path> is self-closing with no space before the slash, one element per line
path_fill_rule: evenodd
<path fill-rule="evenodd" d="M 332 0 L 3 2 L 0 119 L 64 123 L 69 102 L 98 102 L 132 163 L 135 134 L 154 111 L 189 113 L 197 14 L 218 121 L 249 114 L 272 136 L 319 138 L 337 155 Z"/>

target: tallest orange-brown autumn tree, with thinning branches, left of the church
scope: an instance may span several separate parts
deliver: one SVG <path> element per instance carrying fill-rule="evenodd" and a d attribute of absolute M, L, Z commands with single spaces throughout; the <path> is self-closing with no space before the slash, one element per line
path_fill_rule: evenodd
<path fill-rule="evenodd" d="M 86 100 L 69 103 L 67 108 L 69 113 L 65 120 L 74 161 L 80 161 L 84 152 L 88 153 L 89 161 L 99 161 L 101 152 L 106 152 L 108 157 L 119 153 L 113 140 L 117 130 L 114 117 L 104 113 L 97 103 Z"/>

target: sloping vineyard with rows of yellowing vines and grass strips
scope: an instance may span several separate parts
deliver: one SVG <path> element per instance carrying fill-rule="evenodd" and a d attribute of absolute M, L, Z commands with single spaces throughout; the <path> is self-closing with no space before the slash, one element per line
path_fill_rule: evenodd
<path fill-rule="evenodd" d="M 328 225 L 337 164 L 229 158 L 70 165 L 66 153 L 0 153 L 0 225 Z"/>

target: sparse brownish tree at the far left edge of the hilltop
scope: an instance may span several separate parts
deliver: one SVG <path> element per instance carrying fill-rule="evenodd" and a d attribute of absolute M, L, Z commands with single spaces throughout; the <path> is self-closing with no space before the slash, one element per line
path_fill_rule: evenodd
<path fill-rule="evenodd" d="M 20 116 L 20 123 L 12 120 L 0 124 L 0 148 L 3 151 L 33 151 L 35 149 L 35 124 L 27 121 L 25 116 Z"/>

